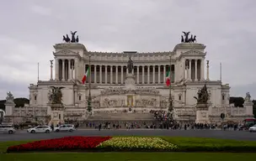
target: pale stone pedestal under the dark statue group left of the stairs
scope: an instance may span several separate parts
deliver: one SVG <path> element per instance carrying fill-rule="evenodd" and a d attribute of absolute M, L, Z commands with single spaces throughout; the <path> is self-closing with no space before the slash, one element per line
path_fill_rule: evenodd
<path fill-rule="evenodd" d="M 51 121 L 49 124 L 56 126 L 64 123 L 64 106 L 62 104 L 51 104 Z"/>

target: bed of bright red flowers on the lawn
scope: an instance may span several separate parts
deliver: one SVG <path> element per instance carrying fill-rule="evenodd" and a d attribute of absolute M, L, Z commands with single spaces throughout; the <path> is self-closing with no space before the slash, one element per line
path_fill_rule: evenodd
<path fill-rule="evenodd" d="M 64 137 L 40 140 L 8 147 L 7 152 L 86 150 L 96 148 L 99 143 L 103 143 L 110 138 L 111 137 Z"/>

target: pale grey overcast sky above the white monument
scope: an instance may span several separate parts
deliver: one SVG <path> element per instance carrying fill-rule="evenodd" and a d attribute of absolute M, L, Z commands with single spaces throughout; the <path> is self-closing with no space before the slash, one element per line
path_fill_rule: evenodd
<path fill-rule="evenodd" d="M 206 45 L 210 79 L 229 83 L 231 96 L 256 98 L 255 0 L 8 0 L 0 5 L 0 100 L 28 97 L 49 80 L 52 45 L 77 30 L 90 51 L 172 51 L 181 31 Z"/>

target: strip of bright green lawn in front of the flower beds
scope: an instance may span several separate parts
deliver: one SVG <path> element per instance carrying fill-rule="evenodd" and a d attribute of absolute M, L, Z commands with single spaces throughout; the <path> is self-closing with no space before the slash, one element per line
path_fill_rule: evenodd
<path fill-rule="evenodd" d="M 241 161 L 253 160 L 256 153 L 9 153 L 0 154 L 8 161 Z"/>

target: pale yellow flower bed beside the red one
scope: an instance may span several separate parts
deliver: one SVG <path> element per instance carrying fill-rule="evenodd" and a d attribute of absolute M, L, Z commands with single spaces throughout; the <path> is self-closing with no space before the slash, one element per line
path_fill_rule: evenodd
<path fill-rule="evenodd" d="M 100 143 L 98 148 L 109 148 L 118 151 L 169 151 L 176 149 L 177 146 L 168 143 L 162 138 L 111 138 L 103 143 Z"/>

